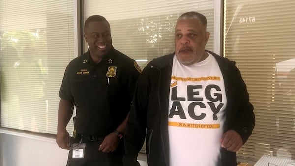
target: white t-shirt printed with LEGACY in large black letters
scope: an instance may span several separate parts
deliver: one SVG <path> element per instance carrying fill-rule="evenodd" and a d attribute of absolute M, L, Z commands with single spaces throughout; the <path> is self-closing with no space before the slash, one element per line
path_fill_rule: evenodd
<path fill-rule="evenodd" d="M 169 95 L 170 166 L 220 166 L 224 81 L 216 59 L 185 66 L 173 59 Z"/>

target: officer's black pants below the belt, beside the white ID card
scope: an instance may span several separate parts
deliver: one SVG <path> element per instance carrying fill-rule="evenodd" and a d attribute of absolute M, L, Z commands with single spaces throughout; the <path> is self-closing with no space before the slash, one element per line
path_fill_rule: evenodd
<path fill-rule="evenodd" d="M 79 140 L 73 141 L 73 143 L 78 142 Z M 122 142 L 120 142 L 118 148 L 111 153 L 104 153 L 98 150 L 102 141 L 90 142 L 89 140 L 82 140 L 81 143 L 86 143 L 84 158 L 72 158 L 73 150 L 70 150 L 66 166 L 123 166 Z"/>

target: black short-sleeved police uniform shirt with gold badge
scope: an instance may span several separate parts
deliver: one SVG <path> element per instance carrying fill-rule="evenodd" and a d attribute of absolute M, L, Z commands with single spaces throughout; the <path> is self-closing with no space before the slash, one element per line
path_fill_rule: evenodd
<path fill-rule="evenodd" d="M 75 104 L 78 134 L 106 136 L 126 118 L 136 80 L 136 61 L 112 48 L 98 64 L 89 50 L 65 69 L 59 97 Z"/>

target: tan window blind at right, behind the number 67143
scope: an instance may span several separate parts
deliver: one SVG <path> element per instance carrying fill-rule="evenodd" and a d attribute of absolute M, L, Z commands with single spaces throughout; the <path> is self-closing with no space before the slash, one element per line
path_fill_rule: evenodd
<path fill-rule="evenodd" d="M 225 0 L 224 56 L 236 61 L 256 126 L 238 159 L 295 159 L 295 1 Z"/>

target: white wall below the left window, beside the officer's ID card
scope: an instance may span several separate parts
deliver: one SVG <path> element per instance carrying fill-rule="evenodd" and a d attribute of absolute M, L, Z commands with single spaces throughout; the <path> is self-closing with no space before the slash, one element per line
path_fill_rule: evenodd
<path fill-rule="evenodd" d="M 0 166 L 65 166 L 68 150 L 60 149 L 54 138 L 0 129 L 0 156 Z"/>

